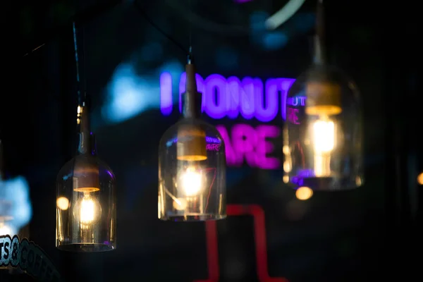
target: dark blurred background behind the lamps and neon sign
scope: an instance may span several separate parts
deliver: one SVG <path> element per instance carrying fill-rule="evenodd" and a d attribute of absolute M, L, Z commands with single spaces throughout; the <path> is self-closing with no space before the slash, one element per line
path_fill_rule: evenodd
<path fill-rule="evenodd" d="M 139 0 L 140 10 L 134 1 L 118 2 L 6 4 L 1 90 L 6 167 L 11 176 L 23 175 L 30 183 L 30 239 L 54 259 L 66 281 L 206 279 L 204 223 L 157 219 L 157 146 L 164 130 L 176 122 L 177 111 L 164 117 L 159 109 L 145 109 L 110 123 L 102 115 L 113 102 L 110 85 L 119 67 L 132 66 L 151 89 L 145 99 L 159 97 L 159 73 L 172 68 L 176 77 L 183 70 L 183 51 L 144 13 L 187 48 L 192 30 L 197 71 L 203 77 L 295 78 L 311 61 L 315 2 L 307 0 L 276 35 L 257 28 L 257 15 L 275 13 L 286 1 Z M 415 180 L 423 168 L 417 71 L 421 16 L 412 1 L 325 3 L 329 61 L 349 73 L 362 93 L 365 184 L 345 192 L 315 192 L 301 202 L 283 184 L 281 171 L 228 168 L 228 203 L 264 209 L 272 277 L 407 281 L 419 274 L 421 262 L 422 192 Z M 76 149 L 74 16 L 84 27 L 82 72 L 99 154 L 118 179 L 114 252 L 68 254 L 54 247 L 56 174 Z M 207 120 L 229 128 L 233 124 Z M 283 125 L 278 118 L 273 123 Z M 217 225 L 221 281 L 258 281 L 252 219 L 229 217 Z M 30 278 L 2 274 L 0 279 Z"/>

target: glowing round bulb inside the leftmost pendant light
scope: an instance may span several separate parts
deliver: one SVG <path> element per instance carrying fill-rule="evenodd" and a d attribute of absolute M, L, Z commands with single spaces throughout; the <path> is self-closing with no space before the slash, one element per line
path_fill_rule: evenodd
<path fill-rule="evenodd" d="M 76 202 L 73 215 L 82 226 L 89 226 L 100 219 L 102 207 L 97 199 L 90 195 L 90 192 L 85 192 L 84 197 L 80 197 Z"/>

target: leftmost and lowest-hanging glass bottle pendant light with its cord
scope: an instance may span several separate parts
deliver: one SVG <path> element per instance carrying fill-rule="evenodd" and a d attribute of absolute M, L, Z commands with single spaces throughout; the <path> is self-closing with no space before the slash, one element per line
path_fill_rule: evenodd
<path fill-rule="evenodd" d="M 79 86 L 75 25 L 74 40 Z M 57 176 L 56 247 L 73 252 L 101 252 L 116 248 L 115 176 L 97 157 L 86 100 L 85 95 L 77 110 L 77 155 Z"/>

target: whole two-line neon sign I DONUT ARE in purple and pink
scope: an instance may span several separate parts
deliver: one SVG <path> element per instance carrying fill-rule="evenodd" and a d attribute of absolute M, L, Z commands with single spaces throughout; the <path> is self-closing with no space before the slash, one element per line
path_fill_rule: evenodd
<path fill-rule="evenodd" d="M 262 123 L 273 121 L 278 114 L 291 123 L 298 123 L 298 109 L 288 106 L 304 106 L 305 97 L 287 99 L 289 87 L 293 84 L 291 78 L 269 78 L 265 82 L 259 78 L 224 78 L 213 74 L 207 78 L 196 75 L 198 91 L 202 92 L 202 111 L 210 118 L 238 118 L 246 120 L 256 118 Z M 182 73 L 179 79 L 178 106 L 182 111 L 182 94 L 185 92 L 186 75 Z M 160 75 L 160 109 L 164 116 L 173 111 L 172 76 L 171 73 Z M 280 109 L 280 110 L 279 110 Z M 288 112 L 287 112 L 288 110 Z M 217 125 L 217 130 L 225 142 L 226 162 L 228 166 L 249 166 L 262 169 L 276 169 L 281 165 L 276 157 L 271 157 L 274 145 L 269 141 L 280 135 L 276 125 L 259 125 L 253 128 L 244 123 L 236 124 L 231 133 L 223 125 Z M 219 142 L 207 140 L 207 150 L 219 150 Z M 176 140 L 175 140 L 176 142 Z M 214 143 L 214 144 L 209 144 Z M 170 145 L 170 144 L 169 144 Z"/>

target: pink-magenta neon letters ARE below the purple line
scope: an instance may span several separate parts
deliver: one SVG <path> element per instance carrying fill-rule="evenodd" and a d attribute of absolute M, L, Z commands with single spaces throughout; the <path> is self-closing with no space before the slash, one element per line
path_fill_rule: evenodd
<path fill-rule="evenodd" d="M 216 126 L 223 137 L 226 147 L 226 164 L 228 166 L 242 166 L 245 161 L 249 166 L 262 169 L 278 168 L 280 163 L 276 157 L 268 157 L 274 146 L 266 138 L 279 136 L 279 129 L 275 125 L 259 125 L 253 128 L 247 124 L 234 125 L 231 137 L 223 125 Z"/>

